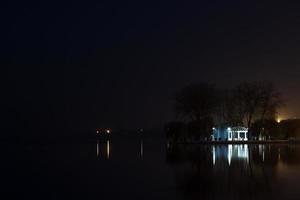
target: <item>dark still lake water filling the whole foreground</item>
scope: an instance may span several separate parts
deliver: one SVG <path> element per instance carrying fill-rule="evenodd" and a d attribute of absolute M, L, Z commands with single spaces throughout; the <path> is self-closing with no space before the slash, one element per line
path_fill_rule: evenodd
<path fill-rule="evenodd" d="M 300 146 L 1 144 L 3 199 L 299 199 Z"/>

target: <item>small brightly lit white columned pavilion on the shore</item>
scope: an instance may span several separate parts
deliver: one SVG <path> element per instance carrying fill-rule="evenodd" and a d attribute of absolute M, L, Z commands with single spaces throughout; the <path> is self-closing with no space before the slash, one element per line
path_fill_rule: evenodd
<path fill-rule="evenodd" d="M 247 141 L 248 128 L 240 126 L 213 128 L 212 139 L 215 141 Z"/>

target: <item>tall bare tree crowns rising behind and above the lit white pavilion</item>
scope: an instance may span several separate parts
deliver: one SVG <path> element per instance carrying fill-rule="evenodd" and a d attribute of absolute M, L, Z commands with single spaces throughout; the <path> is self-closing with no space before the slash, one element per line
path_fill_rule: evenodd
<path fill-rule="evenodd" d="M 187 122 L 186 136 L 207 137 L 213 126 L 246 126 L 251 137 L 251 131 L 262 133 L 264 126 L 272 124 L 282 105 L 280 93 L 269 82 L 244 82 L 233 89 L 216 89 L 202 82 L 178 91 L 174 110 Z"/>

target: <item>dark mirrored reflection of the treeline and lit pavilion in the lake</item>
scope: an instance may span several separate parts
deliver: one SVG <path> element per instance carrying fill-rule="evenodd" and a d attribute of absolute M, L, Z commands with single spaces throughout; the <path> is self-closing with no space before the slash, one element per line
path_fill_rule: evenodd
<path fill-rule="evenodd" d="M 271 184 L 277 164 L 300 163 L 299 155 L 287 145 L 174 145 L 167 162 L 176 169 L 177 191 L 184 199 L 276 199 Z"/>

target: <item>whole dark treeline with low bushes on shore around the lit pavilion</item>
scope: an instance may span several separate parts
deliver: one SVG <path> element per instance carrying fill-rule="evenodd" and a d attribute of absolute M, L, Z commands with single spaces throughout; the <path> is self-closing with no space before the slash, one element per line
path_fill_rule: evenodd
<path fill-rule="evenodd" d="M 231 89 L 195 83 L 174 97 L 176 120 L 166 124 L 167 137 L 207 139 L 213 127 L 243 126 L 251 139 L 295 137 L 297 120 L 277 122 L 284 105 L 280 92 L 269 82 L 245 82 Z"/>

